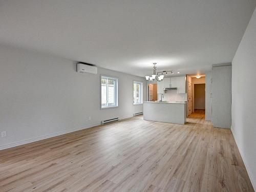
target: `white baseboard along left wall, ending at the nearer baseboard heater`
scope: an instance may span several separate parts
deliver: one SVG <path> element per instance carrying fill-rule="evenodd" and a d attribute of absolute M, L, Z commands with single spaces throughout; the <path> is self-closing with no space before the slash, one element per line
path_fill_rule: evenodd
<path fill-rule="evenodd" d="M 65 131 L 61 131 L 61 132 L 57 132 L 57 133 L 53 133 L 53 134 L 49 134 L 49 135 L 39 136 L 39 137 L 26 139 L 26 140 L 14 142 L 14 143 L 8 143 L 8 144 L 0 145 L 0 150 L 5 150 L 6 148 L 11 148 L 11 147 L 15 147 L 15 146 L 23 145 L 23 144 L 32 143 L 32 142 L 35 142 L 35 141 L 40 141 L 40 140 L 43 140 L 43 139 L 49 139 L 51 137 L 56 137 L 56 136 L 59 136 L 59 135 L 64 135 L 64 134 L 79 131 L 79 130 L 88 129 L 90 127 L 97 126 L 97 125 L 100 125 L 100 123 L 90 124 L 90 125 L 78 127 L 78 128 L 71 129 L 71 130 L 65 130 Z"/>

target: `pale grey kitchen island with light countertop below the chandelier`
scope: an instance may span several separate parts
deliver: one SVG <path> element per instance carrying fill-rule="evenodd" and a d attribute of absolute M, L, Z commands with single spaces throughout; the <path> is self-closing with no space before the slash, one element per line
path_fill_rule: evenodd
<path fill-rule="evenodd" d="M 167 123 L 185 124 L 186 102 L 143 102 L 143 119 Z"/>

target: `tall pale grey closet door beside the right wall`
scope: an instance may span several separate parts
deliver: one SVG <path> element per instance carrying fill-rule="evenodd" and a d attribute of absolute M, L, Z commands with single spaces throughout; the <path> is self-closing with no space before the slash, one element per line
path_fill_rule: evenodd
<path fill-rule="evenodd" d="M 212 123 L 231 127 L 231 65 L 212 67 Z"/>

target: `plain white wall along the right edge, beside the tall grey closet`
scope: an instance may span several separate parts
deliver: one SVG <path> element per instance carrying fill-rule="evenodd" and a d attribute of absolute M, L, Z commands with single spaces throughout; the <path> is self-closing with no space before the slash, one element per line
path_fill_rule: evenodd
<path fill-rule="evenodd" d="M 232 61 L 232 133 L 256 190 L 256 10 Z"/>

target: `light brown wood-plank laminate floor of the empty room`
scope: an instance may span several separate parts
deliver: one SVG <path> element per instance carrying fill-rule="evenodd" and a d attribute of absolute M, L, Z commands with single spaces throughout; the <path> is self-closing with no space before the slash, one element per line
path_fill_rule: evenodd
<path fill-rule="evenodd" d="M 143 116 L 0 151 L 0 191 L 253 191 L 230 130 Z"/>

